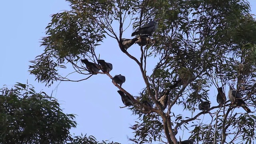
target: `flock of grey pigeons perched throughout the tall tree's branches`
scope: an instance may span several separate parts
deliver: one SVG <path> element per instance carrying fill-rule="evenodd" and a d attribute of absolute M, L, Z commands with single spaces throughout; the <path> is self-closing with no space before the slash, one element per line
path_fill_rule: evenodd
<path fill-rule="evenodd" d="M 135 38 L 133 38 L 133 39 L 122 38 L 123 48 L 125 50 L 127 50 L 134 43 L 138 44 L 139 46 L 145 46 L 147 44 L 154 44 L 155 40 L 150 39 L 150 36 L 154 31 L 156 31 L 157 28 L 158 28 L 157 20 L 151 21 L 148 24 L 142 26 L 141 28 L 138 28 L 135 32 L 132 33 L 132 36 L 136 35 Z M 102 72 L 104 72 L 104 73 L 109 73 L 113 68 L 112 64 L 105 62 L 104 60 L 98 60 L 98 64 L 89 62 L 87 59 L 83 59 L 83 60 L 81 60 L 81 62 L 86 65 L 86 68 L 88 69 L 88 71 L 91 74 L 97 74 L 100 70 L 102 70 Z M 112 82 L 119 84 L 120 87 L 125 82 L 125 77 L 122 76 L 121 74 L 115 75 L 111 79 L 112 79 Z M 173 89 L 177 86 L 183 85 L 186 82 L 189 83 L 194 79 L 195 79 L 194 74 L 192 74 L 192 76 L 189 80 L 183 80 L 183 79 L 179 78 L 176 81 L 176 83 L 173 84 L 172 86 L 170 86 L 169 88 Z M 226 96 L 223 92 L 222 87 L 217 88 L 217 90 L 218 90 L 217 102 L 220 106 L 222 106 L 226 102 Z M 122 98 L 122 102 L 124 103 L 125 106 L 133 105 L 133 102 L 129 96 L 124 94 L 124 92 L 122 92 L 121 90 L 118 90 L 117 92 L 120 94 L 120 96 Z M 166 109 L 166 107 L 167 107 L 169 93 L 170 93 L 170 90 L 166 90 L 164 92 L 164 95 L 161 98 L 159 98 L 159 100 L 158 100 L 158 102 L 161 105 L 162 110 Z M 244 100 L 242 100 L 242 96 L 243 95 L 241 93 L 239 93 L 238 90 L 234 90 L 230 86 L 230 90 L 228 91 L 228 98 L 232 102 L 232 104 L 235 104 L 236 106 L 241 106 L 242 108 L 244 108 L 244 110 L 246 110 L 246 112 L 251 112 L 251 110 L 248 108 L 248 106 L 246 106 L 246 103 L 244 102 Z M 150 103 L 146 100 L 144 100 L 142 103 L 148 107 L 153 108 L 152 103 Z M 199 108 L 199 110 L 202 110 L 204 112 L 209 112 L 208 110 L 210 109 L 210 102 L 209 101 L 201 102 L 199 104 L 198 108 Z M 193 139 L 185 140 L 185 141 L 181 142 L 181 144 L 193 144 L 193 143 L 194 143 Z"/>

